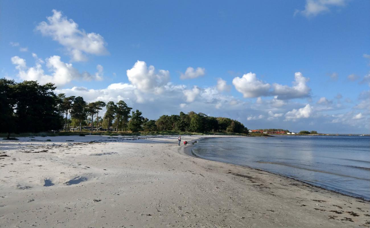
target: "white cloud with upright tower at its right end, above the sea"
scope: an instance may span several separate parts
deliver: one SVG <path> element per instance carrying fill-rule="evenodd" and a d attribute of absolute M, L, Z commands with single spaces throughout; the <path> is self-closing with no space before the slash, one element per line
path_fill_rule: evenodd
<path fill-rule="evenodd" d="M 277 99 L 280 100 L 310 96 L 311 88 L 306 85 L 309 78 L 303 77 L 301 72 L 296 72 L 294 74 L 294 79 L 295 81 L 293 82 L 292 87 L 274 83 L 272 85 L 272 94 L 277 95 Z"/>

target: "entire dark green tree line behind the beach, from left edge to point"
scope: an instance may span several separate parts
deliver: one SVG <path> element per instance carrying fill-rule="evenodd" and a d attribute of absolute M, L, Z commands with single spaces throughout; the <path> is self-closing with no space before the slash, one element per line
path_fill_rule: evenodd
<path fill-rule="evenodd" d="M 139 110 L 120 100 L 86 102 L 81 96 L 55 95 L 52 83 L 39 85 L 36 81 L 20 83 L 14 80 L 0 79 L 0 132 L 22 133 L 49 130 L 81 131 L 168 131 L 181 132 L 234 132 L 248 133 L 248 129 L 239 121 L 224 117 L 207 116 L 204 113 L 180 112 L 179 115 L 162 115 L 157 120 L 149 120 Z M 104 116 L 100 111 L 106 108 Z"/>

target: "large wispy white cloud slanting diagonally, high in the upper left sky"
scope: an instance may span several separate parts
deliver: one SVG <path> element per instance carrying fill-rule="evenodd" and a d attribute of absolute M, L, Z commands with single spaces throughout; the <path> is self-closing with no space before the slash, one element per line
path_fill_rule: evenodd
<path fill-rule="evenodd" d="M 63 45 L 73 61 L 86 61 L 86 54 L 108 53 L 104 38 L 100 34 L 86 33 L 85 30 L 78 29 L 78 24 L 63 16 L 61 11 L 53 10 L 53 16 L 47 17 L 47 22 L 39 23 L 36 30 Z"/>

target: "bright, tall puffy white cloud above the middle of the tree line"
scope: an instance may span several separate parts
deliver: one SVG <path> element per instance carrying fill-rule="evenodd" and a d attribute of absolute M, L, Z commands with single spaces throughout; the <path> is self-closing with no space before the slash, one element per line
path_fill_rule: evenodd
<path fill-rule="evenodd" d="M 139 60 L 126 72 L 128 80 L 142 92 L 161 93 L 161 86 L 166 85 L 170 79 L 168 70 L 156 73 L 154 66 L 147 67 L 147 63 Z"/>

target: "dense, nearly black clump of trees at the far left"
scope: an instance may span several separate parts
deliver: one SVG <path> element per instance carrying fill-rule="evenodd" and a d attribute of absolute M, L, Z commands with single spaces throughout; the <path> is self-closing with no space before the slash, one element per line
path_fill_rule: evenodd
<path fill-rule="evenodd" d="M 60 130 L 60 99 L 51 83 L 20 83 L 0 79 L 0 131 L 4 133 Z"/>

